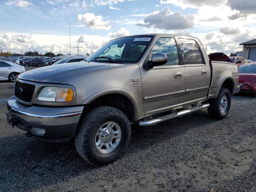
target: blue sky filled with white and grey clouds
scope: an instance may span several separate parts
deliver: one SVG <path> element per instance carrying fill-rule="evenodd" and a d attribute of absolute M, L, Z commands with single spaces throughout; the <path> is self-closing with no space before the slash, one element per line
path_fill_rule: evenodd
<path fill-rule="evenodd" d="M 113 38 L 168 33 L 230 54 L 256 38 L 256 0 L 0 0 L 0 50 L 85 55 Z M 69 31 L 69 25 L 71 31 Z"/>

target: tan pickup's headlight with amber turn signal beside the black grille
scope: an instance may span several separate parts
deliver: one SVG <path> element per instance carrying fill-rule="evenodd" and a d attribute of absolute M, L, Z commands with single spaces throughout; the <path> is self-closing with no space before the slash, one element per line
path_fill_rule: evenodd
<path fill-rule="evenodd" d="M 44 102 L 70 102 L 74 98 L 74 93 L 68 87 L 44 87 L 40 91 L 37 100 Z"/>

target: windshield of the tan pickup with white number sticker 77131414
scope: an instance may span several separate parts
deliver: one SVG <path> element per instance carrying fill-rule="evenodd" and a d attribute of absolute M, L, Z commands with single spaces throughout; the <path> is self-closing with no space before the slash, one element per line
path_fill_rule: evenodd
<path fill-rule="evenodd" d="M 99 58 L 108 57 L 117 61 L 118 63 L 138 62 L 150 44 L 152 38 L 153 36 L 144 35 L 114 39 L 105 44 L 86 60 L 94 62 L 111 62 L 111 60 L 107 58 Z"/>

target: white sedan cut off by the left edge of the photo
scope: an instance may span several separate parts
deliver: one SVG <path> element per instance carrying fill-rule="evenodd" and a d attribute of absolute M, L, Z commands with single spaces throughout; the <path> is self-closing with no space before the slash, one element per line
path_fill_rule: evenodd
<path fill-rule="evenodd" d="M 0 80 L 15 82 L 19 74 L 26 72 L 24 66 L 0 60 Z"/>

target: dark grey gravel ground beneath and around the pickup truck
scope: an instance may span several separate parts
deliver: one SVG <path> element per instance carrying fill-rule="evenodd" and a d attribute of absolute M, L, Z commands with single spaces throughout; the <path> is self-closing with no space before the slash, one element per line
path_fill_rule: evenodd
<path fill-rule="evenodd" d="M 49 143 L 10 128 L 0 83 L 0 191 L 256 191 L 256 98 L 232 97 L 224 120 L 207 110 L 151 127 L 132 126 L 112 164 L 88 166 L 72 142 Z"/>

